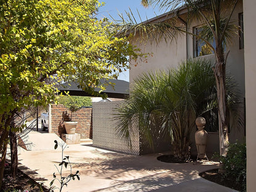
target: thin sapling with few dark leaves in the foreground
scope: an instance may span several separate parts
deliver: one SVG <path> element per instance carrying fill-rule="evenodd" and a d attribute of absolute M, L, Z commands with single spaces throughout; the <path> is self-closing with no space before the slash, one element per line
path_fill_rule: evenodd
<path fill-rule="evenodd" d="M 63 151 L 66 148 L 66 143 L 62 142 L 57 142 L 57 140 L 54 140 L 55 146 L 54 149 L 56 150 L 58 148 L 58 146 L 61 146 L 62 148 L 62 162 L 60 162 L 60 164 L 58 164 L 58 166 L 60 166 L 60 169 L 54 165 L 57 170 L 58 170 L 58 174 L 60 176 L 60 178 L 57 178 L 57 175 L 55 175 L 54 172 L 54 179 L 52 180 L 52 182 L 50 182 L 50 192 L 54 192 L 55 189 L 58 189 L 60 192 L 62 191 L 63 186 L 68 186 L 68 182 L 70 182 L 71 180 L 75 180 L 75 178 L 78 178 L 78 180 L 80 180 L 80 177 L 78 175 L 79 170 L 76 171 L 76 174 L 72 174 L 72 167 L 71 167 L 71 163 L 70 163 L 70 157 L 69 156 L 64 156 Z M 70 167 L 70 174 L 66 177 L 63 176 L 63 166 L 65 168 L 67 168 L 68 166 Z M 60 183 L 60 188 L 52 186 L 55 182 L 55 180 L 57 180 Z"/>

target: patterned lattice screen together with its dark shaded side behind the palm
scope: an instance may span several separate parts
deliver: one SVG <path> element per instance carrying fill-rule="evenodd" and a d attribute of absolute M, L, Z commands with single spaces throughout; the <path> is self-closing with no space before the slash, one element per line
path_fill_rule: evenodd
<path fill-rule="evenodd" d="M 170 140 L 154 137 L 154 148 L 143 139 L 138 129 L 137 120 L 130 124 L 131 146 L 127 140 L 119 136 L 117 120 L 114 116 L 115 109 L 123 102 L 98 102 L 92 103 L 93 117 L 93 145 L 108 150 L 120 151 L 130 154 L 158 153 L 170 150 Z"/>

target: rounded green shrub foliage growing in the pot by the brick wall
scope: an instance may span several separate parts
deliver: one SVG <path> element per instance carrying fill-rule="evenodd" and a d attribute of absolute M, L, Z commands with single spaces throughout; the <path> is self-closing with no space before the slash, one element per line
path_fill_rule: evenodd
<path fill-rule="evenodd" d="M 58 103 L 63 104 L 65 108 L 71 111 L 70 121 L 72 121 L 72 114 L 74 112 L 80 110 L 83 106 L 92 106 L 90 97 L 80 96 L 63 96 L 58 99 Z"/>

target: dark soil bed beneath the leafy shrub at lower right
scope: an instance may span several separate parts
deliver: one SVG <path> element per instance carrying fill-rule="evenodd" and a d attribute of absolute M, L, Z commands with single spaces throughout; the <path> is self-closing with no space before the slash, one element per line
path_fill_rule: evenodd
<path fill-rule="evenodd" d="M 243 191 L 242 184 L 236 182 L 236 178 L 224 178 L 223 174 L 218 173 L 218 169 L 208 170 L 199 175 L 210 182 L 218 183 L 233 190 Z"/>

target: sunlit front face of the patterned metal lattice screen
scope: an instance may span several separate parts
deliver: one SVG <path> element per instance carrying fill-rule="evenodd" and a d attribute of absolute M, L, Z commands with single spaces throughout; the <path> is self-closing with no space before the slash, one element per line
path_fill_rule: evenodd
<path fill-rule="evenodd" d="M 120 151 L 129 154 L 140 154 L 140 135 L 137 124 L 134 122 L 132 129 L 132 146 L 124 138 L 120 138 L 116 130 L 115 109 L 123 102 L 98 102 L 92 103 L 92 134 L 93 146 L 108 150 Z"/>

